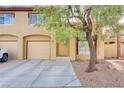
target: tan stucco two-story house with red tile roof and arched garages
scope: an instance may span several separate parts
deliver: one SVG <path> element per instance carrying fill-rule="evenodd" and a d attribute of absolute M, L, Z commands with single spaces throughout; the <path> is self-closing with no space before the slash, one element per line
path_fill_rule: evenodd
<path fill-rule="evenodd" d="M 57 44 L 43 27 L 34 26 L 38 14 L 28 6 L 0 7 L 0 48 L 9 51 L 9 59 L 56 59 L 70 57 L 71 60 L 89 59 L 88 44 L 71 39 L 65 46 Z M 40 20 L 42 22 L 42 20 Z M 97 58 L 104 59 L 104 43 L 97 43 Z"/>

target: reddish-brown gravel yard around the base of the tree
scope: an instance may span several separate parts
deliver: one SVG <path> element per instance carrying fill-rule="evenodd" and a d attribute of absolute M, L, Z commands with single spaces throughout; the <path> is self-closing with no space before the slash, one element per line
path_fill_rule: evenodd
<path fill-rule="evenodd" d="M 124 87 L 124 61 L 122 60 L 105 60 L 96 65 L 98 71 L 90 73 L 85 72 L 88 62 L 72 62 L 72 66 L 82 87 Z M 121 70 L 118 67 L 121 67 Z"/>

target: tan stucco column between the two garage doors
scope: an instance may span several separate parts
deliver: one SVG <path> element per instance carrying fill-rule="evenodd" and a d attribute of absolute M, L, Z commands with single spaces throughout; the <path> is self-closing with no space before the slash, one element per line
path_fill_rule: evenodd
<path fill-rule="evenodd" d="M 23 59 L 23 38 L 19 37 L 18 38 L 18 59 Z"/>

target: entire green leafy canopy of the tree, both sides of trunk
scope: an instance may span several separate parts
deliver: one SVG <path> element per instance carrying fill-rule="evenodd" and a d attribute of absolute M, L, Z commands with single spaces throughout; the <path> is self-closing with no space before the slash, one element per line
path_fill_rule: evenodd
<path fill-rule="evenodd" d="M 69 6 L 35 6 L 34 11 L 40 14 L 44 14 L 44 24 L 37 24 L 38 26 L 44 26 L 47 31 L 54 35 L 57 42 L 63 41 L 68 43 L 70 38 L 78 37 L 81 40 L 86 40 L 86 33 L 83 29 L 83 15 L 85 10 L 89 6 L 72 6 L 72 10 Z M 102 28 L 110 26 L 114 32 L 117 32 L 122 28 L 118 25 L 119 19 L 123 16 L 123 6 L 116 5 L 95 5 L 90 6 L 92 8 L 91 16 L 93 25 L 93 35 L 98 35 L 98 38 L 104 40 L 106 35 L 102 34 Z M 75 17 L 76 16 L 76 17 Z M 70 26 L 68 20 L 70 18 L 77 18 L 78 22 Z"/>

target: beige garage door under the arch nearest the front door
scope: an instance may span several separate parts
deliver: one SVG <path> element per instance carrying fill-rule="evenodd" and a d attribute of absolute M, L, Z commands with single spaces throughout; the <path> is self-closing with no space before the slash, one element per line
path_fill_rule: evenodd
<path fill-rule="evenodd" d="M 28 59 L 49 59 L 50 43 L 41 41 L 28 42 Z"/>

